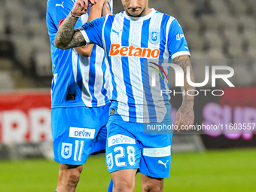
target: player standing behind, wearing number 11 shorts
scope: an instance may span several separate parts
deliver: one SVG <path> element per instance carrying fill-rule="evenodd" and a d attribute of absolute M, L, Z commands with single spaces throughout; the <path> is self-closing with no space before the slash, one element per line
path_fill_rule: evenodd
<path fill-rule="evenodd" d="M 75 191 L 89 154 L 105 149 L 109 117 L 108 66 L 104 50 L 93 44 L 68 50 L 54 46 L 56 32 L 74 4 L 75 0 L 47 2 L 53 63 L 51 129 L 54 159 L 59 163 L 58 192 Z M 90 14 L 78 19 L 77 27 L 102 14 L 111 14 L 112 1 L 92 7 Z M 100 11 L 94 12 L 94 7 Z"/>

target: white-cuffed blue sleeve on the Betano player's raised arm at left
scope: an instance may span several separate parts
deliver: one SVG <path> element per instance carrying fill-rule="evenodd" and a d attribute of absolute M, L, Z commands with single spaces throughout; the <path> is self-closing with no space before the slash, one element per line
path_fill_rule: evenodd
<path fill-rule="evenodd" d="M 97 44 L 99 47 L 103 47 L 102 30 L 105 19 L 106 17 L 99 17 L 91 22 L 85 23 L 79 28 L 87 44 Z"/>

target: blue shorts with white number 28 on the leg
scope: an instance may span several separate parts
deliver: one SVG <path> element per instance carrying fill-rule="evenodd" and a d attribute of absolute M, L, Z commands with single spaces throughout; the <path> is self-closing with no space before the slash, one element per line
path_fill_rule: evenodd
<path fill-rule="evenodd" d="M 171 121 L 165 122 L 172 124 Z M 139 169 L 154 178 L 170 175 L 172 134 L 143 134 L 145 123 L 126 122 L 119 115 L 108 120 L 106 163 L 108 172 Z"/>

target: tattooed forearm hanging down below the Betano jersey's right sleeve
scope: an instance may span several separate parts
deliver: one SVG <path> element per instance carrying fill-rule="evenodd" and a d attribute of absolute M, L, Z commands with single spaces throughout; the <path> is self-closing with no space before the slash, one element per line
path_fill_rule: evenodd
<path fill-rule="evenodd" d="M 193 69 L 192 69 L 192 66 L 191 66 L 189 56 L 187 56 L 187 55 L 177 56 L 172 60 L 172 62 L 174 62 L 178 66 L 181 66 L 181 68 L 183 69 L 183 72 L 184 72 L 184 87 L 181 87 L 181 90 L 182 91 L 184 90 L 183 102 L 184 103 L 194 103 L 194 96 L 193 95 L 194 95 L 195 88 L 187 83 L 187 73 L 190 73 L 189 74 L 190 75 L 190 80 L 192 82 L 195 81 L 194 72 L 193 72 Z M 187 66 L 190 67 L 189 72 L 187 72 Z M 187 94 L 188 90 L 189 90 L 189 95 Z"/>

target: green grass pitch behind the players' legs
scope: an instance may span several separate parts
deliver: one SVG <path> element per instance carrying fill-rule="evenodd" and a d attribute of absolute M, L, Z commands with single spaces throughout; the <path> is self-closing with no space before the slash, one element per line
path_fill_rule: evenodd
<path fill-rule="evenodd" d="M 54 192 L 58 163 L 53 160 L 0 161 L 1 192 Z M 77 192 L 104 192 L 110 175 L 105 157 L 90 157 Z M 256 149 L 172 154 L 171 176 L 164 191 L 256 191 Z M 141 191 L 139 174 L 136 190 Z"/>

